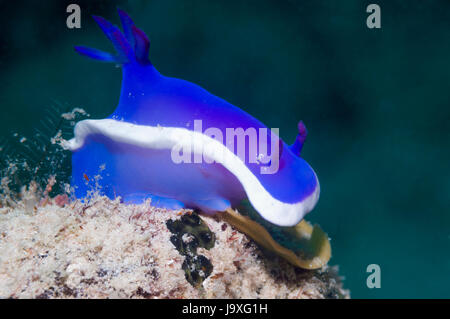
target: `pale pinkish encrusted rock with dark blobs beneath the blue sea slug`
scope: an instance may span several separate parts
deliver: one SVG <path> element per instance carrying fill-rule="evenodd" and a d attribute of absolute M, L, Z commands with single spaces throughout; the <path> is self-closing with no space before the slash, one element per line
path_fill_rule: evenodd
<path fill-rule="evenodd" d="M 217 216 L 21 198 L 0 208 L 1 298 L 349 297 L 336 267 L 294 267 Z"/>

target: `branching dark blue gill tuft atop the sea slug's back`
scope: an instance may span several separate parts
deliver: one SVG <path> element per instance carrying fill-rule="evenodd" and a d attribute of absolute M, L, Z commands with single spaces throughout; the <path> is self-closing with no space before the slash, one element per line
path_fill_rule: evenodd
<path fill-rule="evenodd" d="M 97 22 L 103 33 L 113 44 L 117 52 L 116 55 L 83 46 L 76 46 L 75 51 L 91 59 L 103 62 L 150 64 L 148 59 L 149 39 L 144 32 L 134 26 L 133 20 L 124 11 L 120 9 L 118 11 L 124 33 L 106 19 L 93 16 L 95 22 Z"/>

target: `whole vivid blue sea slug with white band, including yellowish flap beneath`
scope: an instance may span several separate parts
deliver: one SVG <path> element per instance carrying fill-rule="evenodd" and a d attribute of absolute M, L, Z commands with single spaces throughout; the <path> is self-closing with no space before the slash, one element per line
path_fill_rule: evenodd
<path fill-rule="evenodd" d="M 146 34 L 120 9 L 119 16 L 123 32 L 94 16 L 116 54 L 75 47 L 84 56 L 123 70 L 115 111 L 106 119 L 78 122 L 67 143 L 73 152 L 75 196 L 84 198 L 97 187 L 101 194 L 128 203 L 151 199 L 153 205 L 170 209 L 220 212 L 299 267 L 326 264 L 326 234 L 302 221 L 320 189 L 315 172 L 300 156 L 306 137 L 303 123 L 294 144 L 287 145 L 240 108 L 191 82 L 160 74 L 148 58 Z M 314 249 L 294 254 L 295 249 L 280 246 L 262 223 L 231 209 L 243 200 L 262 223 L 294 233 L 302 245 Z"/>

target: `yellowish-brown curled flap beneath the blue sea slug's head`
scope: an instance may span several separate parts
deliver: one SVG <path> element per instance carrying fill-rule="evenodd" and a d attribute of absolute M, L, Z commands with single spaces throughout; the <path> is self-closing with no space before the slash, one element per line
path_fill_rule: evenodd
<path fill-rule="evenodd" d="M 220 215 L 225 221 L 245 233 L 265 249 L 274 252 L 294 266 L 303 269 L 319 269 L 325 266 L 331 257 L 331 245 L 327 234 L 317 225 L 312 226 L 302 220 L 287 231 L 296 243 L 294 250 L 281 246 L 261 224 L 234 209 L 227 209 Z"/>

